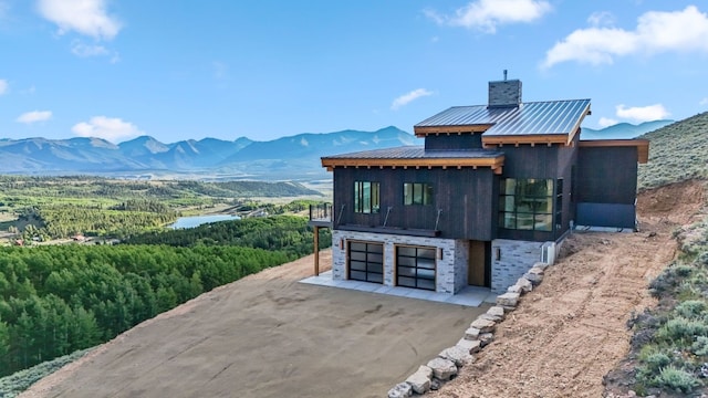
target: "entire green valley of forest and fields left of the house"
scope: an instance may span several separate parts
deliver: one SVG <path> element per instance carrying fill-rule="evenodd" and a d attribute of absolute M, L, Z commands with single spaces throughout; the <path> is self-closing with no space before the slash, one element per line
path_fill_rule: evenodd
<path fill-rule="evenodd" d="M 288 182 L 0 176 L 0 212 L 17 217 L 0 224 L 25 245 L 74 234 L 123 241 L 0 247 L 0 377 L 95 346 L 214 287 L 312 253 L 304 217 L 165 228 L 180 209 L 219 201 L 244 212 L 302 212 L 310 201 L 270 205 L 249 196 L 303 192 L 311 193 Z M 321 249 L 331 244 L 330 231 L 321 231 L 320 242 Z"/>

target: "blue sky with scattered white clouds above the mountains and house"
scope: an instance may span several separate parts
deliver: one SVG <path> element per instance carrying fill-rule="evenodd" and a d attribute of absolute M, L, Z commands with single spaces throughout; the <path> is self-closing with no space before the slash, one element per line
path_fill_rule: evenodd
<path fill-rule="evenodd" d="M 585 127 L 708 111 L 698 0 L 0 0 L 0 138 L 412 132 L 503 70 Z"/>

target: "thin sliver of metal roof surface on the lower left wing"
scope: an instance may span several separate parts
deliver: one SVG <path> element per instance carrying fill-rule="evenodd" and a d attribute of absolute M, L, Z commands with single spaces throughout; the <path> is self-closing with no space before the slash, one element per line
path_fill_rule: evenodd
<path fill-rule="evenodd" d="M 425 150 L 423 146 L 403 146 L 323 156 L 322 159 L 494 159 L 503 155 L 499 150 Z"/>

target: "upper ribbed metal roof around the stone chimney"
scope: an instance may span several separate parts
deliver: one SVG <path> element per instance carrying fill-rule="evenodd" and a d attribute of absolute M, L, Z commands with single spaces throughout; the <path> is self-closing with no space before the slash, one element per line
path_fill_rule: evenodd
<path fill-rule="evenodd" d="M 590 100 L 522 103 L 519 106 L 454 106 L 416 124 L 418 127 L 491 125 L 485 136 L 571 134 L 590 111 Z"/>

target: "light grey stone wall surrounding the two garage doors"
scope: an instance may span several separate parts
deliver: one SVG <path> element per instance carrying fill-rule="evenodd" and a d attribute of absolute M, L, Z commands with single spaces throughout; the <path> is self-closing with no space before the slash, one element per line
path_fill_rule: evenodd
<path fill-rule="evenodd" d="M 467 285 L 466 242 L 454 239 L 408 237 L 355 231 L 332 231 L 332 277 L 346 280 L 346 242 L 348 240 L 384 244 L 384 285 L 395 286 L 395 247 L 417 245 L 442 249 L 442 259 L 436 253 L 436 292 L 455 294 Z M 343 245 L 340 243 L 343 242 Z"/>

